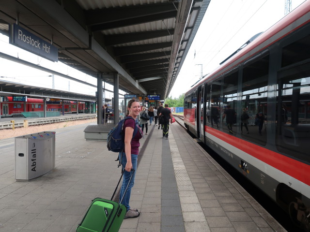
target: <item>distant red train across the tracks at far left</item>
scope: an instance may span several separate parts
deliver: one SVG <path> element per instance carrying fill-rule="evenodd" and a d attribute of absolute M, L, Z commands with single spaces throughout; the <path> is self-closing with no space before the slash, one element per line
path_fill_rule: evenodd
<path fill-rule="evenodd" d="M 77 113 L 77 102 L 65 101 L 64 103 L 64 114 Z M 62 101 L 53 100 L 47 101 L 47 111 L 60 111 L 62 113 Z M 14 117 L 20 116 L 21 112 L 39 112 L 44 111 L 44 101 L 39 98 L 27 98 L 26 108 L 24 108 L 24 102 L 14 101 L 13 97 L 3 97 L 1 103 L 1 117 Z M 78 102 L 78 113 L 84 113 L 85 102 Z"/>

